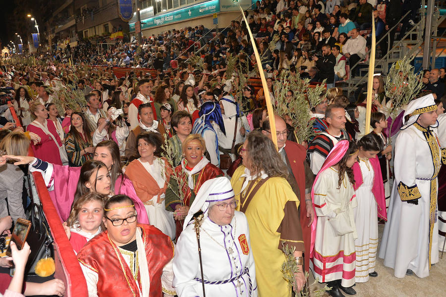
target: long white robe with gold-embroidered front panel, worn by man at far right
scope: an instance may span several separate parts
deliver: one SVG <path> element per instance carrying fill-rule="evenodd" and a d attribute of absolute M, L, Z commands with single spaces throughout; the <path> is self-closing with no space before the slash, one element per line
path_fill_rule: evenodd
<path fill-rule="evenodd" d="M 423 132 L 417 129 L 416 125 L 400 130 L 396 138 L 395 180 L 388 222 L 384 227 L 379 252 L 379 257 L 384 258 L 384 265 L 393 268 L 394 275 L 399 278 L 405 276 L 407 269 L 411 269 L 418 277 L 429 276 L 429 260 L 431 263 L 437 263 L 439 256 L 438 223 L 435 222 L 435 216 L 438 189 L 436 175 L 440 168 L 440 148 L 434 139 L 433 147 L 436 151 L 433 159 L 431 148 Z M 435 137 L 435 132 L 433 133 Z M 431 181 L 433 176 L 435 179 Z M 401 200 L 398 193 L 400 182 L 407 187 L 416 187 L 411 190 L 412 193 L 404 196 L 416 196 L 414 191 L 418 189 L 421 195 L 418 205 Z M 431 192 L 431 188 L 434 191 Z M 435 197 L 431 198 L 431 194 Z"/>

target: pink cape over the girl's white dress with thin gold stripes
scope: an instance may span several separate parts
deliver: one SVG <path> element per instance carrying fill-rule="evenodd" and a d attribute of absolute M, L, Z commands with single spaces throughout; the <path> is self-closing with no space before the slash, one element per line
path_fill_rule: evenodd
<path fill-rule="evenodd" d="M 387 221 L 387 211 L 386 211 L 386 195 L 384 194 L 384 184 L 383 175 L 381 173 L 381 166 L 378 156 L 369 159 L 370 164 L 372 164 L 373 171 L 375 172 L 375 177 L 373 178 L 372 194 L 375 197 L 376 204 L 378 204 L 378 216 Z M 362 179 L 362 172 L 359 163 L 356 162 L 353 165 L 353 174 L 355 177 L 355 184 L 353 189 L 355 191 L 364 183 Z"/>

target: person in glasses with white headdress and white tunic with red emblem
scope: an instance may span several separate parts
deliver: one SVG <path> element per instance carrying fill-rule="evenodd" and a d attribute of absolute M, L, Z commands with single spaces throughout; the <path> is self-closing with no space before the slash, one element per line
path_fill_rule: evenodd
<path fill-rule="evenodd" d="M 173 287 L 179 297 L 257 297 L 254 258 L 245 215 L 226 177 L 203 183 L 184 220 L 173 257 Z M 193 215 L 203 211 L 199 248 Z M 203 272 L 203 276 L 202 276 Z"/>

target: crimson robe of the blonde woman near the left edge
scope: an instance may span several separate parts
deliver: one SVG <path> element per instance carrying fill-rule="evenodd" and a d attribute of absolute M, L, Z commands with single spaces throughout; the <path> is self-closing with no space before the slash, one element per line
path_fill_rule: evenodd
<path fill-rule="evenodd" d="M 62 146 L 62 142 L 60 141 L 60 137 L 57 134 L 56 127 L 54 126 L 53 121 L 47 120 L 48 131 L 50 131 L 54 137 L 56 137 L 56 142 L 59 146 Z M 34 156 L 43 161 L 62 165 L 62 161 L 60 159 L 59 148 L 53 139 L 50 139 L 50 135 L 47 135 L 41 128 L 34 126 L 33 123 L 29 124 L 26 128 L 27 131 L 36 133 L 42 139 L 37 145 L 34 142 L 31 142 L 31 148 L 33 149 Z"/>

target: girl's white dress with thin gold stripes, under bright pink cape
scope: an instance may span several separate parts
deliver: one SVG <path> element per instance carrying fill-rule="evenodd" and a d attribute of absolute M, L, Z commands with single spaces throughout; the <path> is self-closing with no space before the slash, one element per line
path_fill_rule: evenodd
<path fill-rule="evenodd" d="M 355 191 L 358 206 L 354 208 L 356 232 L 356 283 L 369 280 L 369 273 L 375 271 L 378 250 L 378 207 L 372 194 L 375 172 L 368 159 L 360 159 L 363 184 Z"/>

